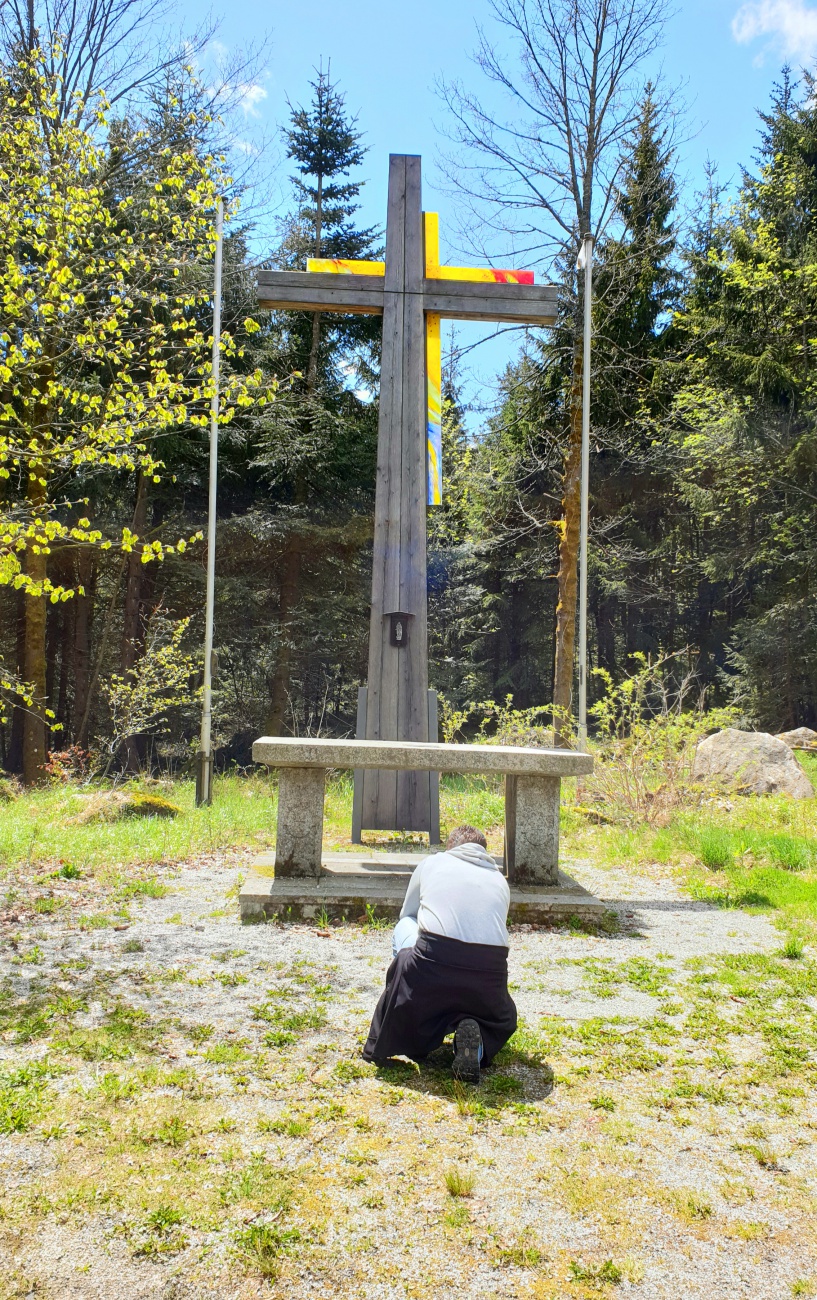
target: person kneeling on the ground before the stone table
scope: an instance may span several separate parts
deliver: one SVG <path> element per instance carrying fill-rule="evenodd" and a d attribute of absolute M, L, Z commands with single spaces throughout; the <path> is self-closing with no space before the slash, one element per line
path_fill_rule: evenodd
<path fill-rule="evenodd" d="M 454 1074 L 479 1083 L 480 1065 L 516 1028 L 507 992 L 510 889 L 485 836 L 461 826 L 445 853 L 415 867 L 394 930 L 394 961 L 363 1056 L 422 1060 L 454 1032 Z"/>

